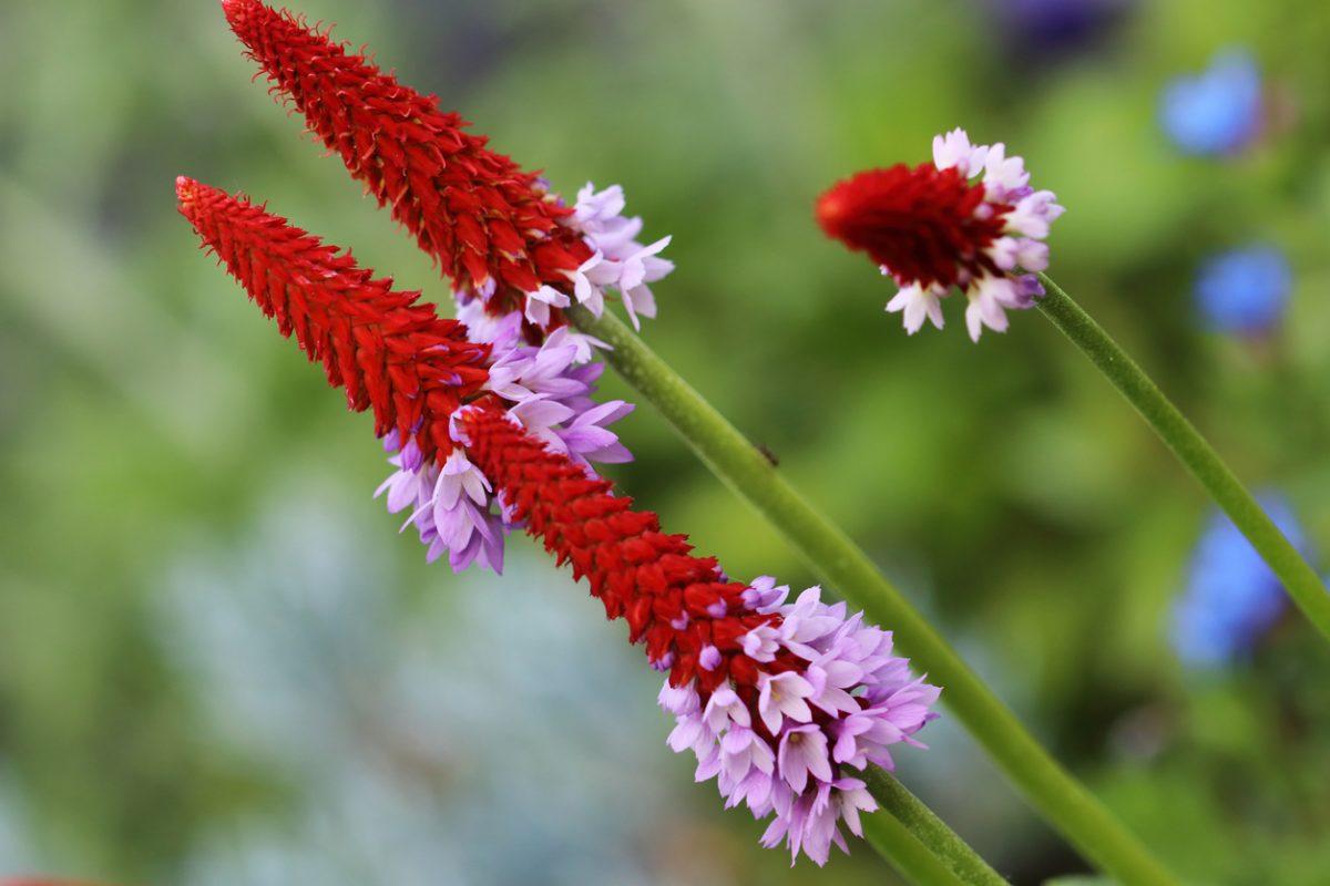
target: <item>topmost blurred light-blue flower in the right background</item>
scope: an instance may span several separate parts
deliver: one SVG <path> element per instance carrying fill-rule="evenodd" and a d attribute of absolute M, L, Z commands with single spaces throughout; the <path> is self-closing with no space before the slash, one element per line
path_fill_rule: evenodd
<path fill-rule="evenodd" d="M 1197 77 L 1177 77 L 1160 100 L 1160 125 L 1189 154 L 1241 150 L 1261 129 L 1261 72 L 1244 50 L 1214 56 Z"/>

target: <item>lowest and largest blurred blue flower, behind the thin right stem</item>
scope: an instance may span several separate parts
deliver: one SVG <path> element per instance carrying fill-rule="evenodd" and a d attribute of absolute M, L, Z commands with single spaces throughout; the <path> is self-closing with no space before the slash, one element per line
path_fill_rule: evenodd
<path fill-rule="evenodd" d="M 1306 538 L 1287 501 L 1279 495 L 1260 501 L 1294 547 L 1306 551 Z M 1246 655 L 1286 606 L 1279 579 L 1237 526 L 1216 511 L 1192 555 L 1186 590 L 1173 607 L 1173 648 L 1190 667 L 1228 664 Z"/>

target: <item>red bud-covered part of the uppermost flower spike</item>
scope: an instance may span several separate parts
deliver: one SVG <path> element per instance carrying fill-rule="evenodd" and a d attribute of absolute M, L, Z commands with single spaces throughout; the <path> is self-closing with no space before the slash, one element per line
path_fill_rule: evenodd
<path fill-rule="evenodd" d="M 222 9 L 273 89 L 380 206 L 392 205 L 458 290 L 493 286 L 487 310 L 496 316 L 521 310 L 523 294 L 543 284 L 571 292 L 567 272 L 592 251 L 559 223 L 571 210 L 535 174 L 488 150 L 434 96 L 400 85 L 290 12 L 258 0 L 222 0 Z"/>

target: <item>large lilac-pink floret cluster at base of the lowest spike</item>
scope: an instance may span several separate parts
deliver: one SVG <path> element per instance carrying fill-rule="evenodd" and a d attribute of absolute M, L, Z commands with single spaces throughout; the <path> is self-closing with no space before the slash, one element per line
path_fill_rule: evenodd
<path fill-rule="evenodd" d="M 726 808 L 775 813 L 763 845 L 783 840 L 791 858 L 802 850 L 822 865 L 831 843 L 849 851 L 839 822 L 862 836 L 859 813 L 878 808 L 853 770 L 892 769 L 894 744 L 923 747 L 911 736 L 938 716 L 930 708 L 940 689 L 914 677 L 910 662 L 891 654 L 891 634 L 864 624 L 862 612 L 846 618 L 846 604 L 827 606 L 818 587 L 794 603 L 787 595 L 771 578 L 753 582 L 745 602 L 781 618 L 741 643 L 758 663 L 787 651 L 802 671 L 761 673 L 755 705 L 732 684 L 704 704 L 692 684 L 668 681 L 660 704 L 677 723 L 670 748 L 697 754 L 698 781 L 716 778 Z"/>

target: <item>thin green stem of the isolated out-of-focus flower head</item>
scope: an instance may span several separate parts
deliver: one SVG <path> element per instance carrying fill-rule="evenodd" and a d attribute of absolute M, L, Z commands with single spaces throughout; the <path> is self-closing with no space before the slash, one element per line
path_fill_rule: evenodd
<path fill-rule="evenodd" d="M 1326 586 L 1315 570 L 1150 377 L 1060 286 L 1043 274 L 1039 278 L 1048 292 L 1039 302 L 1044 316 L 1136 406 L 1154 433 L 1246 535 L 1317 630 L 1330 639 L 1330 594 L 1326 594 Z"/>

